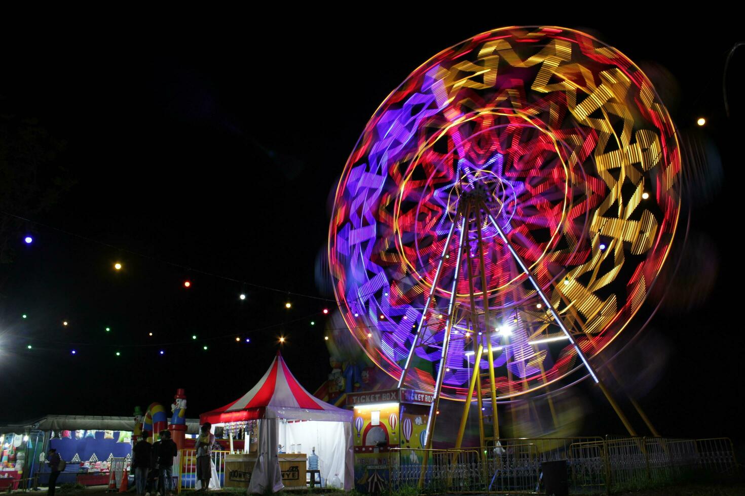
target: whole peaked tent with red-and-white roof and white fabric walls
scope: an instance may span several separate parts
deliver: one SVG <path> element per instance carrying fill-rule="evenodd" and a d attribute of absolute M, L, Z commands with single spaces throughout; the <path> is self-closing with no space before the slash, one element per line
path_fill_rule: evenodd
<path fill-rule="evenodd" d="M 346 491 L 354 485 L 354 450 L 351 410 L 337 408 L 314 397 L 295 379 L 277 352 L 261 380 L 234 402 L 200 415 L 200 423 L 215 426 L 259 420 L 259 461 L 253 466 L 248 492 L 279 492 L 279 445 L 317 448 L 326 455 L 321 476 L 342 479 Z M 291 422 L 291 421 L 306 422 Z M 280 429 L 282 425 L 282 429 Z M 328 473 L 324 474 L 324 471 Z"/>

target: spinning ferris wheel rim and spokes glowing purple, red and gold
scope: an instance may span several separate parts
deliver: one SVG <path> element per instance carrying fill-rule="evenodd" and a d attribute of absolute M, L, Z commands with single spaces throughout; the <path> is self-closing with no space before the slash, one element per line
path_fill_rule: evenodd
<path fill-rule="evenodd" d="M 549 27 L 461 42 L 384 100 L 343 170 L 346 326 L 436 398 L 597 382 L 670 251 L 679 175 L 671 117 L 615 48 Z"/>

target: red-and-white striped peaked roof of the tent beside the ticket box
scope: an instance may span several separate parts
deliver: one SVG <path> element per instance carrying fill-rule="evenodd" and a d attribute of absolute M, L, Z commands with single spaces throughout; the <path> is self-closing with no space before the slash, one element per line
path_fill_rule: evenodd
<path fill-rule="evenodd" d="M 251 419 L 351 422 L 352 416 L 352 411 L 336 408 L 308 393 L 277 352 L 267 373 L 248 393 L 222 408 L 202 413 L 199 419 L 200 423 L 212 424 Z"/>

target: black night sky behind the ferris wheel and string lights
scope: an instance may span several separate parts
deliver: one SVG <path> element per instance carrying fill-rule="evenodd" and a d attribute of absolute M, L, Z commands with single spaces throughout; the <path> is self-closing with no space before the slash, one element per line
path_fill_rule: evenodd
<path fill-rule="evenodd" d="M 4 30 L 0 114 L 37 118 L 63 140 L 54 163 L 75 184 L 33 216 L 2 203 L 38 223 L 17 224 L 13 261 L 0 265 L 0 421 L 128 416 L 135 405 L 170 405 L 177 387 L 186 388 L 194 417 L 252 387 L 279 335 L 288 338 L 289 367 L 315 390 L 330 372 L 321 312 L 335 308 L 317 277 L 326 267 L 319 260 L 329 197 L 367 120 L 437 52 L 490 28 L 543 22 L 586 30 L 642 68 L 656 67 L 648 73 L 655 83 L 665 81 L 659 66 L 667 69 L 677 86 L 658 89 L 673 119 L 718 147 L 723 181 L 717 170 L 704 175 L 714 185 L 708 200 L 693 202 L 691 220 L 694 237 L 708 242 L 706 270 L 718 265 L 714 289 L 688 312 L 663 308 L 640 341 L 642 358 L 621 363 L 632 376 L 639 361 L 659 365 L 641 403 L 663 434 L 741 438 L 743 410 L 733 398 L 745 393 L 742 254 L 732 236 L 743 54 L 731 62 L 729 120 L 721 81 L 742 30 L 476 19 L 378 15 L 361 25 L 266 16 Z M 700 115 L 705 130 L 694 129 Z M 0 184 L 0 195 L 14 187 Z M 34 237 L 28 246 L 26 233 Z M 113 270 L 115 262 L 124 268 Z M 581 387 L 589 427 L 621 432 L 599 394 Z"/>

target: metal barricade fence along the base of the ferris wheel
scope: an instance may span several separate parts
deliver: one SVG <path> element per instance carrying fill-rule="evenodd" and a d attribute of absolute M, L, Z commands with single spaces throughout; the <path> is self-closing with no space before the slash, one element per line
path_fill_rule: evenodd
<path fill-rule="evenodd" d="M 675 480 L 693 471 L 732 474 L 735 451 L 727 438 L 571 437 L 500 439 L 481 448 L 391 448 L 390 491 L 422 494 L 535 493 L 542 464 L 566 462 L 572 494 L 610 492 Z"/>

